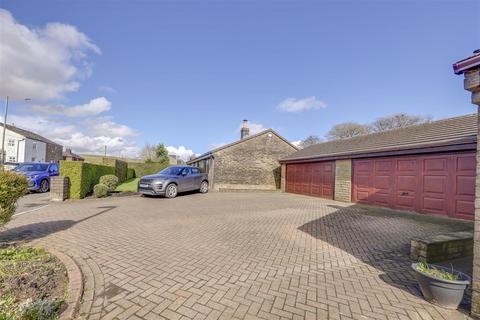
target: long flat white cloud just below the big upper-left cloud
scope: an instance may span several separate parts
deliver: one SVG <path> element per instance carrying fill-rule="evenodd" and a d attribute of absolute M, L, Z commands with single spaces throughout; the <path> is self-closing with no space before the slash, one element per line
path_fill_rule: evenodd
<path fill-rule="evenodd" d="M 61 115 L 66 117 L 85 117 L 97 115 L 110 110 L 112 103 L 105 97 L 90 100 L 90 102 L 73 107 L 65 105 L 33 105 L 26 110 L 47 115 Z"/>

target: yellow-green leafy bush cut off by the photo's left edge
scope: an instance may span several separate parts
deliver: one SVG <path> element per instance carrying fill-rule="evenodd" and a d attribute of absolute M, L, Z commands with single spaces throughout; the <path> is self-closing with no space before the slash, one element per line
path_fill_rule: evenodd
<path fill-rule="evenodd" d="M 0 226 L 12 218 L 17 200 L 28 192 L 25 176 L 9 171 L 0 171 Z"/>

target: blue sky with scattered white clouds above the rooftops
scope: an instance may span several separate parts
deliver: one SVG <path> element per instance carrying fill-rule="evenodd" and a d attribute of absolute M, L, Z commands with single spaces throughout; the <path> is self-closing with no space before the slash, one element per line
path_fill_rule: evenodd
<path fill-rule="evenodd" d="M 473 113 L 452 63 L 478 48 L 476 0 L 0 1 L 7 122 L 79 153 Z"/>

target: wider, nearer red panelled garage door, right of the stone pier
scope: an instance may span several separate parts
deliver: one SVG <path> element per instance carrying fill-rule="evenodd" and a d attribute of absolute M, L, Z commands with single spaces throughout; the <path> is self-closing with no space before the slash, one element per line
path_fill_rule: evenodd
<path fill-rule="evenodd" d="M 475 153 L 353 161 L 353 201 L 474 218 Z"/>

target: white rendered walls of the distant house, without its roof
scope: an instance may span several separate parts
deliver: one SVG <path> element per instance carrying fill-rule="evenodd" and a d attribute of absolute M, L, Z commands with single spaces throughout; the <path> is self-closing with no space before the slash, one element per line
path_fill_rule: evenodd
<path fill-rule="evenodd" d="M 3 139 L 3 126 L 0 125 L 0 153 Z M 13 146 L 9 146 L 9 140 L 13 141 Z M 36 147 L 34 148 L 34 144 Z M 47 152 L 47 144 L 45 142 L 26 139 L 24 136 L 6 130 L 5 134 L 5 151 L 7 162 L 15 158 L 15 162 L 31 162 L 35 158 L 35 162 L 44 162 Z"/>

